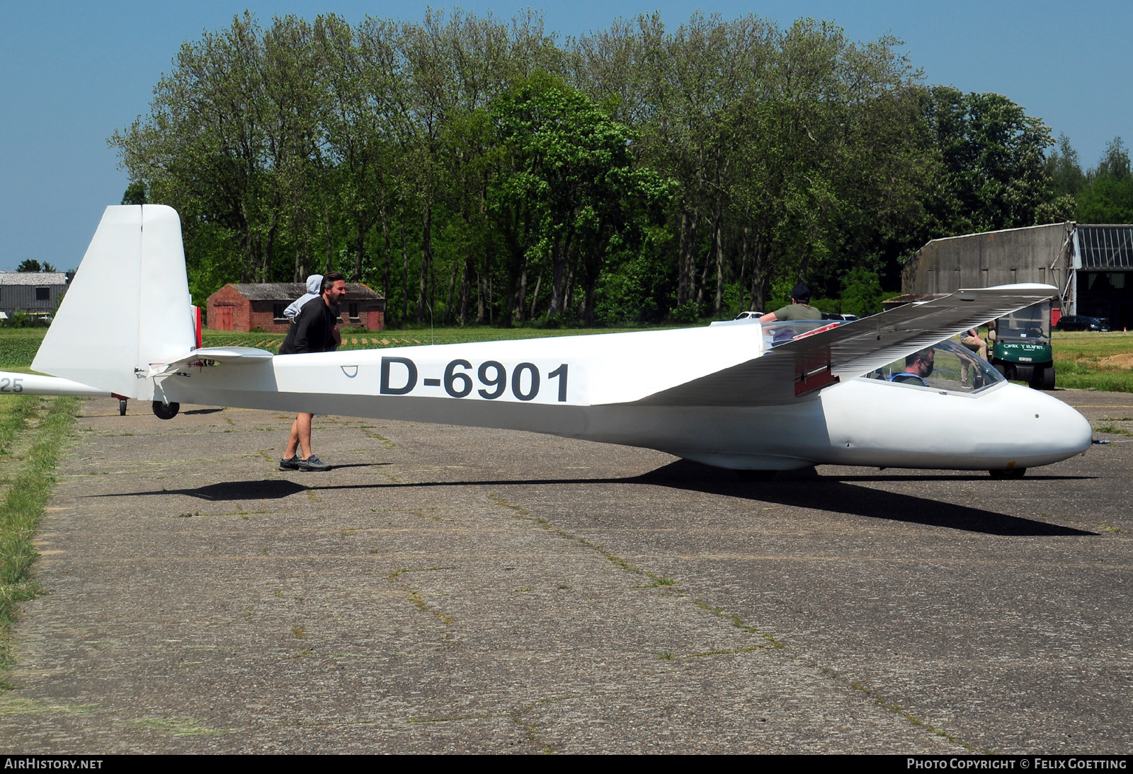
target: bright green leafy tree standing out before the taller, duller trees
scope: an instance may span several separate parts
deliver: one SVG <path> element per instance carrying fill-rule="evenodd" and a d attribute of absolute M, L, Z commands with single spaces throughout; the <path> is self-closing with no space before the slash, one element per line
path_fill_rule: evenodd
<path fill-rule="evenodd" d="M 572 273 L 582 285 L 582 322 L 594 325 L 600 275 L 640 246 L 671 184 L 637 164 L 632 130 L 562 78 L 536 72 L 502 95 L 491 115 L 501 164 L 488 197 L 512 273 L 526 280 L 531 264 L 548 259 L 548 319 L 561 313 Z M 521 319 L 522 291 L 518 301 Z"/>

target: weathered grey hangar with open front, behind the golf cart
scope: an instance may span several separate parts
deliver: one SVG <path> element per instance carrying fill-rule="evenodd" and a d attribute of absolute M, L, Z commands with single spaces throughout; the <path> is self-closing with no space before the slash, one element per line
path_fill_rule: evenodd
<path fill-rule="evenodd" d="M 1133 225 L 1071 221 L 934 239 L 905 264 L 898 298 L 1019 282 L 1056 285 L 1064 315 L 1133 328 Z"/>

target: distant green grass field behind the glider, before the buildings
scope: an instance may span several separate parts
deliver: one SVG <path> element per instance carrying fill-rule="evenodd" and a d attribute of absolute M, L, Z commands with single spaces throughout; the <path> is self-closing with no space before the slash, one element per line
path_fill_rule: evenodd
<path fill-rule="evenodd" d="M 348 328 L 342 335 L 343 350 L 367 350 L 419 344 L 458 344 L 543 336 L 621 333 L 640 328 L 414 328 L 369 330 Z M 43 341 L 45 328 L 0 328 L 0 369 L 27 369 Z M 205 346 L 256 346 L 278 352 L 283 334 L 231 333 L 206 330 Z M 1133 332 L 1054 334 L 1055 368 L 1058 386 L 1068 389 L 1100 389 L 1133 393 Z"/>

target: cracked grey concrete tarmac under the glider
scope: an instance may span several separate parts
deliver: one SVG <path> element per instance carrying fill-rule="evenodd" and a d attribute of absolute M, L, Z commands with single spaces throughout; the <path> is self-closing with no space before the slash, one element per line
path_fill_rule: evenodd
<path fill-rule="evenodd" d="M 290 416 L 186 408 L 84 404 L 9 750 L 1130 750 L 1130 445 L 747 483 L 318 418 L 281 473 Z"/>

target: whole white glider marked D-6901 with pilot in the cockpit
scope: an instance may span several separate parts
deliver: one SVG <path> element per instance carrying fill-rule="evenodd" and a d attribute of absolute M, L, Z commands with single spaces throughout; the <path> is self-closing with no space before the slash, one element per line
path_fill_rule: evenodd
<path fill-rule="evenodd" d="M 196 347 L 177 213 L 121 206 L 107 208 L 32 368 L 77 382 L 75 394 L 153 401 L 162 418 L 194 403 L 528 430 L 740 471 L 838 464 L 1021 475 L 1084 452 L 1090 424 L 947 339 L 1056 293 L 1036 284 L 963 290 L 843 325 L 742 320 L 273 356 Z M 934 373 L 889 380 L 926 347 Z M 61 382 L 22 388 L 68 392 Z"/>

